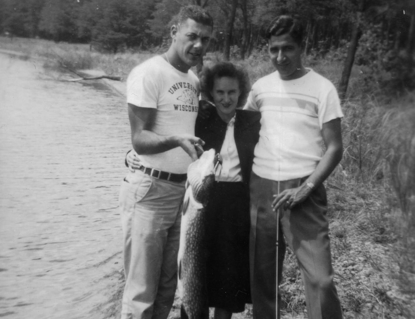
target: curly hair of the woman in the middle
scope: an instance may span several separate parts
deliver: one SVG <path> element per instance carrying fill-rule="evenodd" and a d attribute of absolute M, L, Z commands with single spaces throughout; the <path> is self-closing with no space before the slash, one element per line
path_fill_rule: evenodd
<path fill-rule="evenodd" d="M 247 102 L 251 84 L 247 71 L 231 62 L 217 62 L 211 66 L 203 67 L 199 74 L 203 98 L 207 98 L 209 102 L 213 103 L 213 96 L 210 94 L 213 89 L 213 83 L 215 79 L 223 78 L 224 76 L 238 80 L 241 95 L 238 99 L 237 108 L 241 108 Z"/>

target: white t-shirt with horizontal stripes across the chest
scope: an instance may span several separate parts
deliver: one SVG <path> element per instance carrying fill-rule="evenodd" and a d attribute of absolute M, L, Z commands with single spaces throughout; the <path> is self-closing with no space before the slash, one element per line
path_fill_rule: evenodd
<path fill-rule="evenodd" d="M 336 88 L 311 69 L 295 80 L 278 71 L 259 79 L 244 110 L 261 112 L 252 171 L 275 181 L 310 175 L 323 155 L 323 123 L 343 117 Z"/>

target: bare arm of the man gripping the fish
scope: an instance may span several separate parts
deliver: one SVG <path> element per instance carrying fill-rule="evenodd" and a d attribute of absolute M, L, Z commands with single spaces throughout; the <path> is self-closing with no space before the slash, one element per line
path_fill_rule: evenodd
<path fill-rule="evenodd" d="M 138 154 L 157 154 L 180 146 L 193 161 L 198 159 L 195 144 L 205 144 L 200 138 L 191 134 L 159 135 L 151 131 L 156 109 L 128 103 L 128 116 L 132 146 Z"/>

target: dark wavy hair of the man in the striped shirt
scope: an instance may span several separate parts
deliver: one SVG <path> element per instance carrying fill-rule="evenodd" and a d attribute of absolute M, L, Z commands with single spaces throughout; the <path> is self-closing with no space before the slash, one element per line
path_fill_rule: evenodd
<path fill-rule="evenodd" d="M 266 29 L 265 38 L 269 40 L 272 36 L 278 37 L 286 33 L 290 34 L 299 45 L 302 44 L 304 37 L 303 24 L 291 15 L 280 15 L 272 20 Z"/>

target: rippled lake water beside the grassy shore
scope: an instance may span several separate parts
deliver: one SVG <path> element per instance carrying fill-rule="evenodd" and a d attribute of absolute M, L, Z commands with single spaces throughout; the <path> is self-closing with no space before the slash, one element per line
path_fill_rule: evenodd
<path fill-rule="evenodd" d="M 0 317 L 103 317 L 129 132 L 122 96 L 0 54 Z"/>

